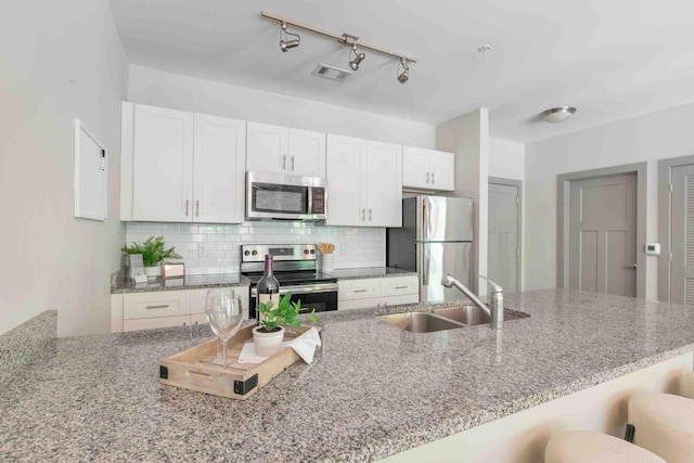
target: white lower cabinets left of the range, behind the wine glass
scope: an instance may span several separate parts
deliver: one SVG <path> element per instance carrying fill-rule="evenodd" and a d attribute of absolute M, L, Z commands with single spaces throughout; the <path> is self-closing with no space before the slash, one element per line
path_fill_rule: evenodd
<path fill-rule="evenodd" d="M 241 294 L 248 318 L 248 286 L 231 286 Z M 156 291 L 111 296 L 111 332 L 119 333 L 207 323 L 205 290 Z"/>

